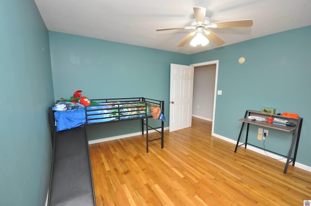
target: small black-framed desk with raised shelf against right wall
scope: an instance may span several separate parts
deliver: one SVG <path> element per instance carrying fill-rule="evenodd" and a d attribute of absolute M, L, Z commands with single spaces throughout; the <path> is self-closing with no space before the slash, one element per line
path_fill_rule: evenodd
<path fill-rule="evenodd" d="M 294 122 L 295 126 L 292 127 L 292 126 L 283 126 L 283 125 L 276 125 L 273 123 L 267 123 L 266 121 L 252 121 L 251 119 L 247 118 L 248 116 L 258 116 L 258 117 L 268 118 L 268 117 L 270 117 L 270 114 L 264 114 L 264 113 L 261 113 L 260 111 L 253 111 L 253 110 L 247 110 L 245 112 L 244 118 L 239 119 L 239 121 L 242 122 L 242 127 L 240 130 L 239 138 L 238 138 L 237 144 L 235 146 L 234 152 L 235 153 L 237 152 L 237 149 L 239 146 L 245 145 L 245 148 L 246 148 L 247 138 L 248 138 L 248 130 L 249 130 L 250 124 L 258 125 L 260 127 L 268 127 L 268 128 L 272 128 L 272 129 L 277 129 L 277 130 L 281 130 L 281 131 L 285 131 L 285 132 L 293 132 L 293 140 L 292 140 L 290 150 L 288 152 L 287 161 L 286 161 L 286 165 L 285 165 L 284 172 L 283 172 L 284 174 L 286 174 L 289 163 L 293 162 L 292 163 L 293 166 L 295 164 L 303 118 L 299 117 L 296 119 L 296 118 L 279 116 L 276 114 L 272 115 L 272 118 L 281 118 L 281 119 L 286 119 L 288 121 Z M 240 139 L 241 139 L 241 134 L 242 134 L 243 127 L 244 127 L 245 123 L 247 123 L 246 140 L 245 140 L 245 143 L 239 145 Z M 296 146 L 294 147 L 295 144 L 296 144 Z M 291 158 L 293 151 L 294 151 L 294 157 Z"/>

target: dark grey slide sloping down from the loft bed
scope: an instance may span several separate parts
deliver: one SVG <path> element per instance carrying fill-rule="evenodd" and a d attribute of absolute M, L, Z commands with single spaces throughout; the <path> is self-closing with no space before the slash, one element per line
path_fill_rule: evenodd
<path fill-rule="evenodd" d="M 86 128 L 54 135 L 48 206 L 95 206 Z"/>

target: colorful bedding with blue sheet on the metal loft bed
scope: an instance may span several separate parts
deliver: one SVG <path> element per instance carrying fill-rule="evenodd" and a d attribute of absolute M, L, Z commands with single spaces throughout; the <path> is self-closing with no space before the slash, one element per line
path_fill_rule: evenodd
<path fill-rule="evenodd" d="M 72 102 L 59 102 L 52 107 L 56 131 L 79 127 L 84 124 L 103 123 L 152 116 L 165 121 L 158 106 L 141 101 L 94 102 L 89 106 Z"/>

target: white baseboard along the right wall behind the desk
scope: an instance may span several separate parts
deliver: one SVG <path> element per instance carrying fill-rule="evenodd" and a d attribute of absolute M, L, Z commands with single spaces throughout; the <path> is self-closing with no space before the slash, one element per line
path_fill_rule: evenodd
<path fill-rule="evenodd" d="M 226 137 L 224 137 L 224 136 L 221 136 L 221 135 L 218 135 L 218 134 L 215 134 L 215 133 L 212 133 L 212 136 L 217 137 L 217 138 L 220 138 L 220 139 L 222 139 L 222 140 L 225 140 L 225 141 L 227 141 L 227 142 L 229 142 L 229 143 L 237 144 L 237 141 L 232 140 L 232 139 L 229 139 L 229 138 L 226 138 Z M 241 145 L 241 144 L 243 144 L 243 143 L 240 143 L 239 145 Z M 282 156 L 276 155 L 276 154 L 271 153 L 271 152 L 264 151 L 263 149 L 259 149 L 259 148 L 257 148 L 257 147 L 252 146 L 252 145 L 247 145 L 247 149 L 250 149 L 250 150 L 252 150 L 252 151 L 254 151 L 254 152 L 257 152 L 257 153 L 259 153 L 259 154 L 268 156 L 268 157 L 270 157 L 270 158 L 275 158 L 275 159 L 277 159 L 277 160 L 279 160 L 279 161 L 282 161 L 282 162 L 285 162 L 285 163 L 286 163 L 286 161 L 287 161 L 287 158 L 284 158 L 284 157 L 282 157 Z M 306 171 L 308 171 L 308 172 L 311 172 L 311 167 L 310 167 L 310 166 L 301 164 L 301 163 L 299 163 L 299 162 L 295 162 L 295 167 L 298 167 L 298 168 L 300 168 L 300 169 L 303 169 L 303 170 L 306 170 Z"/>

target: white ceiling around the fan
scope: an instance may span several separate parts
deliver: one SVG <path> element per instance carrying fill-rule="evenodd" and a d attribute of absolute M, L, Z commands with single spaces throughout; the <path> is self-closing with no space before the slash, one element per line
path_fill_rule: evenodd
<path fill-rule="evenodd" d="M 311 25 L 311 0 L 35 0 L 49 31 L 193 54 L 217 46 L 182 48 L 194 6 L 207 8 L 211 22 L 253 19 L 251 28 L 212 29 L 225 45 Z M 225 46 L 223 45 L 223 46 Z"/>

